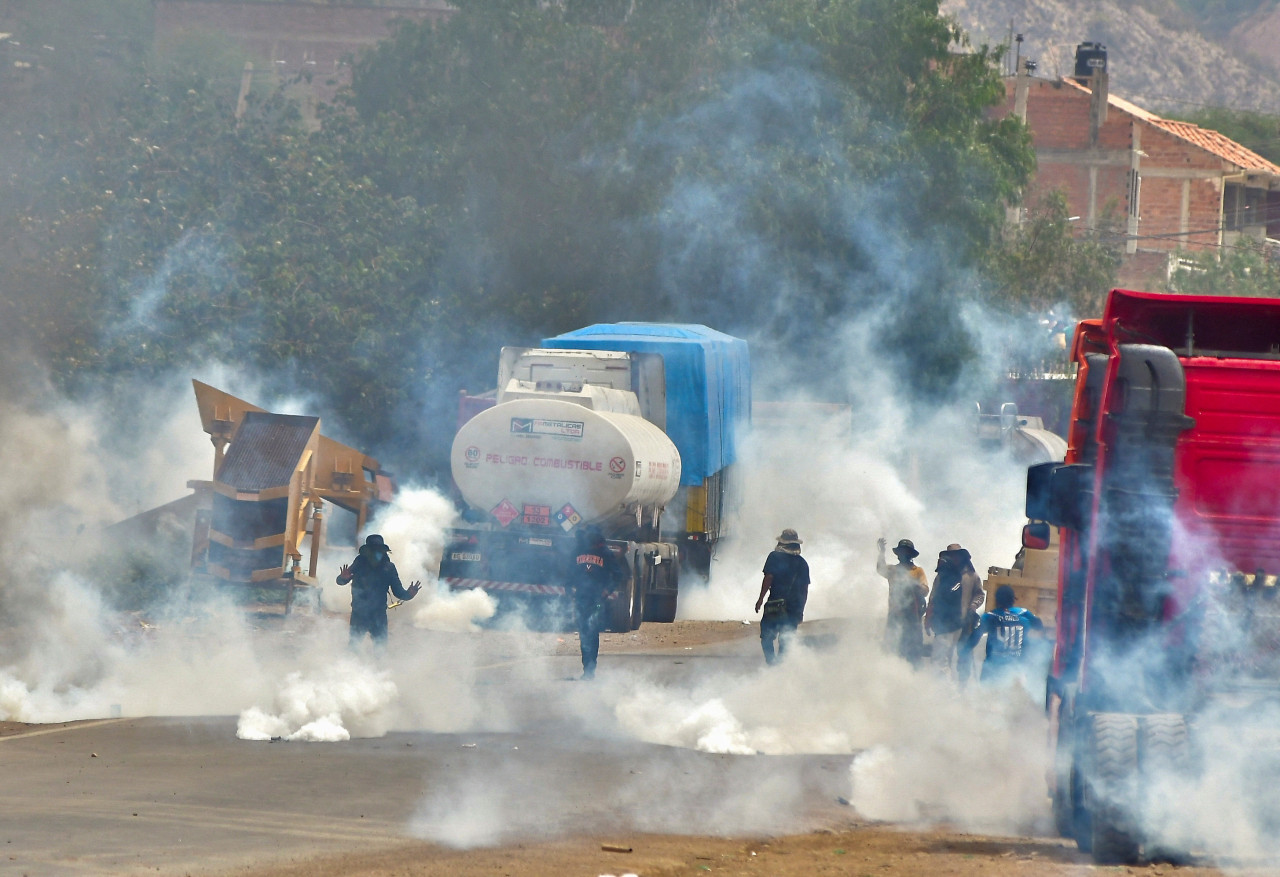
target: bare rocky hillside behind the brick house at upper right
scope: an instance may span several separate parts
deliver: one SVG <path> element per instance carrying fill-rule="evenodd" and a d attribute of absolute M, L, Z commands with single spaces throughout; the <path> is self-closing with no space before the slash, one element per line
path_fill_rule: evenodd
<path fill-rule="evenodd" d="M 1074 68 L 1075 45 L 1107 46 L 1111 92 L 1153 113 L 1226 106 L 1280 114 L 1280 6 L 1265 8 L 1222 40 L 1176 6 L 1123 0 L 945 0 L 974 42 L 1024 37 L 1023 56 L 1038 76 Z M 1158 12 L 1156 12 L 1158 9 Z M 1207 28 L 1204 28 L 1207 31 Z"/>

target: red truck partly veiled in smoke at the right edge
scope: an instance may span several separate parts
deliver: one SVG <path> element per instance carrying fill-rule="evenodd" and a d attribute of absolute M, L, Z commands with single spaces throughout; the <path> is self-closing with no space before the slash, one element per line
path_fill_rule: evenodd
<path fill-rule="evenodd" d="M 1233 796 L 1277 786 L 1280 298 L 1115 289 L 1073 358 L 1066 460 L 1028 470 L 1023 536 L 1061 545 L 1053 817 L 1135 863 L 1212 844 L 1167 790 L 1224 740 L 1248 748 Z"/>

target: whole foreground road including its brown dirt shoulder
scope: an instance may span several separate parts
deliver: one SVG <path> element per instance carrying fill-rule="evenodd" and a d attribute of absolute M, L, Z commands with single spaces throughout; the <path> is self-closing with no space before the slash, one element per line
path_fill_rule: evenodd
<path fill-rule="evenodd" d="M 755 672 L 755 632 L 741 622 L 646 625 L 605 635 L 602 653 L 616 656 L 613 666 L 630 662 L 652 673 L 695 673 L 708 663 L 717 672 Z M 827 634 L 814 625 L 809 635 L 819 641 Z M 516 700 L 521 679 L 511 668 L 522 662 L 550 661 L 572 673 L 572 635 L 521 635 L 518 643 L 504 636 L 485 635 L 490 676 L 481 681 L 504 699 Z M 564 690 L 589 693 L 567 682 Z M 598 737 L 590 727 L 548 723 L 532 708 L 518 725 L 506 734 L 398 731 L 337 744 L 246 743 L 236 739 L 234 717 L 0 725 L 0 873 L 1094 871 L 1057 839 L 868 822 L 841 799 L 851 755 L 717 755 Z M 735 813 L 728 823 L 750 830 L 714 837 L 685 831 L 712 823 L 709 813 L 755 784 L 755 798 L 773 810 Z M 776 800 L 769 789 L 777 789 Z M 788 835 L 797 816 L 819 830 Z M 1169 864 L 1100 871 L 1221 873 Z"/>

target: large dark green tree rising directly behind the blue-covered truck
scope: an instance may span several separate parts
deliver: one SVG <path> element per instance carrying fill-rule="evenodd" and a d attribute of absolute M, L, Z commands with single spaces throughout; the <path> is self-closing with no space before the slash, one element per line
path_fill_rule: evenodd
<path fill-rule="evenodd" d="M 344 155 L 438 205 L 443 248 L 493 253 L 431 280 L 526 338 L 695 319 L 829 351 L 877 310 L 891 348 L 922 319 L 951 332 L 954 278 L 1032 169 L 1020 123 L 987 114 L 997 54 L 954 51 L 929 0 L 640 0 L 605 29 L 580 4 L 458 6 L 357 64 Z M 954 365 L 902 361 L 940 388 Z"/>

